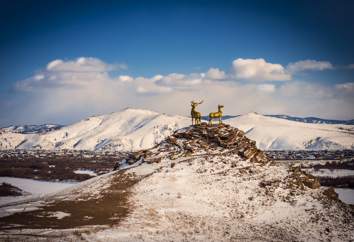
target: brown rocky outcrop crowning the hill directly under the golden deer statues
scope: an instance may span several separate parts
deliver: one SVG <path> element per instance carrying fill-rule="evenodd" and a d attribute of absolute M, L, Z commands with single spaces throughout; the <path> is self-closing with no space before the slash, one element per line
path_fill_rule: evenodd
<path fill-rule="evenodd" d="M 238 154 L 251 163 L 274 165 L 256 146 L 256 142 L 244 136 L 244 132 L 228 124 L 201 123 L 177 130 L 173 135 L 149 150 L 139 151 L 130 156 L 130 164 L 139 159 L 143 162 L 160 163 L 164 159 L 196 156 L 200 151 L 209 154 L 228 152 Z"/>

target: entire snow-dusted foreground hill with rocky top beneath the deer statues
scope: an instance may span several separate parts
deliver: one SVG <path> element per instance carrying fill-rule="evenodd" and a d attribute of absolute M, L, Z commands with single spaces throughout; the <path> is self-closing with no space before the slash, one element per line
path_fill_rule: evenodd
<path fill-rule="evenodd" d="M 299 167 L 275 165 L 229 125 L 180 129 L 117 167 L 52 195 L 1 208 L 0 238 L 354 239 L 352 206 Z"/>

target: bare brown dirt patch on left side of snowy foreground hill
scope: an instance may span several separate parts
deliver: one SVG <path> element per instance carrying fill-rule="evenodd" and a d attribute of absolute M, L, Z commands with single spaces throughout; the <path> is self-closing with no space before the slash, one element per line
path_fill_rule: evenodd
<path fill-rule="evenodd" d="M 99 191 L 95 198 L 81 195 L 65 201 L 49 198 L 38 210 L 15 213 L 1 218 L 0 229 L 68 229 L 86 225 L 114 225 L 126 217 L 131 203 L 130 190 L 137 182 L 134 174 L 125 174 L 126 169 L 113 175 L 109 187 Z M 56 216 L 65 213 L 66 216 Z"/>

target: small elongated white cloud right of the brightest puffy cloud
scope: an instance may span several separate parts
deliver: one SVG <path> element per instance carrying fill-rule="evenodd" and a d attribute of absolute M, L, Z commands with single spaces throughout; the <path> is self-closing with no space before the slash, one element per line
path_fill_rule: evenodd
<path fill-rule="evenodd" d="M 324 69 L 335 69 L 329 61 L 316 61 L 316 60 L 306 60 L 297 61 L 295 63 L 290 62 L 287 67 L 287 73 L 295 74 L 299 71 L 323 71 Z"/>

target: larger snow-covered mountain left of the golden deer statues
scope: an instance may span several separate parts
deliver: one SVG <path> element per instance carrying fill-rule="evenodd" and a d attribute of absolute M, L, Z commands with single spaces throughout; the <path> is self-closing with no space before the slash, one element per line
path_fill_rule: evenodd
<path fill-rule="evenodd" d="M 46 133 L 27 136 L 19 149 L 140 150 L 154 146 L 176 129 L 190 125 L 189 118 L 156 111 L 126 108 L 92 116 Z"/>

